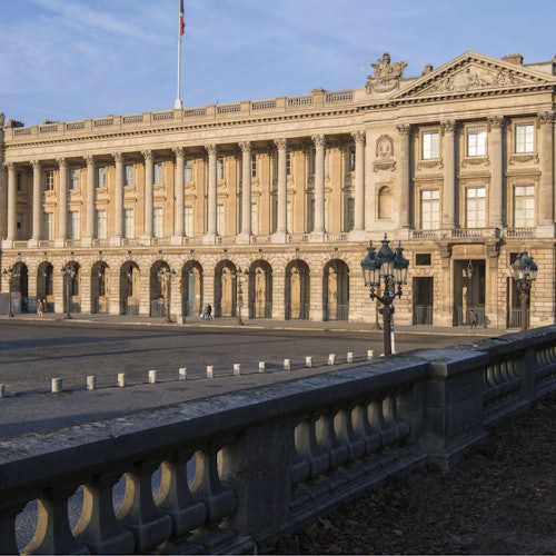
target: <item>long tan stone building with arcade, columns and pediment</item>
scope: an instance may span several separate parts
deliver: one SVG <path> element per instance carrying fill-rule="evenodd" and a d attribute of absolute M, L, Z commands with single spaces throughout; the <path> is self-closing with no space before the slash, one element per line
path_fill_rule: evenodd
<path fill-rule="evenodd" d="M 299 97 L 2 117 L 2 291 L 28 311 L 375 321 L 360 260 L 387 235 L 410 261 L 396 322 L 518 326 L 523 250 L 529 324 L 554 322 L 556 60 L 405 67 L 385 54 L 359 89 Z"/>

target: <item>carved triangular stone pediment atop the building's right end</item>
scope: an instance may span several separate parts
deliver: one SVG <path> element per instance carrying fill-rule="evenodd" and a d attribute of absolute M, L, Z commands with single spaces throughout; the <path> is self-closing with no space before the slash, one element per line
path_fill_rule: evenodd
<path fill-rule="evenodd" d="M 556 85 L 549 75 L 527 69 L 526 66 L 489 58 L 475 52 L 440 66 L 430 73 L 401 87 L 391 97 L 403 100 L 419 97 L 446 97 L 493 89 L 527 88 L 530 86 Z"/>

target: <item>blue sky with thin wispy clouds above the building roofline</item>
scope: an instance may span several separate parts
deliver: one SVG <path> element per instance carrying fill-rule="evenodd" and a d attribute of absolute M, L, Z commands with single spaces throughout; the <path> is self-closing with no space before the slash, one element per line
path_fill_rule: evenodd
<path fill-rule="evenodd" d="M 27 126 L 173 108 L 179 0 L 1 0 L 0 112 Z M 556 53 L 554 0 L 185 0 L 185 107 L 364 87 L 474 50 Z"/>

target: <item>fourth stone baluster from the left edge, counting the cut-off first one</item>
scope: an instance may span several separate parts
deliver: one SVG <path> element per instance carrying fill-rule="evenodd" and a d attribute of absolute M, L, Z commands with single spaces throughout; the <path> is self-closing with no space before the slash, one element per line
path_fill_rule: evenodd
<path fill-rule="evenodd" d="M 158 466 L 158 461 L 139 461 L 126 473 L 126 494 L 117 517 L 133 534 L 136 553 L 155 549 L 171 534 L 170 516 L 152 498 L 151 477 Z"/>

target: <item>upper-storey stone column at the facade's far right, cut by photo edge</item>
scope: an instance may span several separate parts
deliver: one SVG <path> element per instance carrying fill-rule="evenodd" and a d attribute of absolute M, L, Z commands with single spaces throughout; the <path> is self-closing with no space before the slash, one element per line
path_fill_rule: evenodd
<path fill-rule="evenodd" d="M 555 196 L 554 196 L 554 163 L 555 163 L 555 151 L 554 151 L 554 112 L 543 112 L 539 115 L 540 121 L 540 183 L 539 183 L 539 195 L 537 199 L 542 199 L 538 208 L 538 224 L 543 237 L 547 234 L 547 237 L 554 237 L 554 215 L 555 215 Z M 537 235 L 540 230 L 537 230 Z"/>

